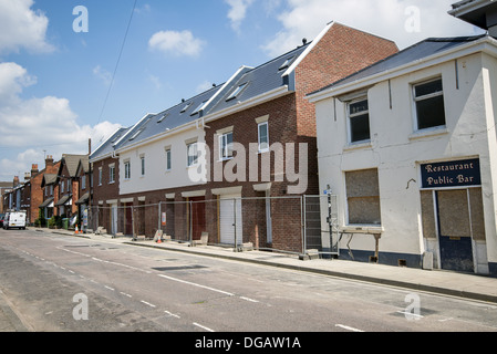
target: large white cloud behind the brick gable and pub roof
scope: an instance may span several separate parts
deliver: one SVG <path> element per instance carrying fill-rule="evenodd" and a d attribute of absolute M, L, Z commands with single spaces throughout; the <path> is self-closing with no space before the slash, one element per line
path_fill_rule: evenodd
<path fill-rule="evenodd" d="M 472 25 L 447 13 L 452 3 L 454 0 L 287 0 L 287 10 L 278 17 L 282 30 L 263 50 L 271 56 L 282 54 L 302 38 L 314 39 L 330 21 L 393 40 L 400 49 L 429 37 L 475 34 Z M 412 9 L 417 9 L 418 15 Z"/>

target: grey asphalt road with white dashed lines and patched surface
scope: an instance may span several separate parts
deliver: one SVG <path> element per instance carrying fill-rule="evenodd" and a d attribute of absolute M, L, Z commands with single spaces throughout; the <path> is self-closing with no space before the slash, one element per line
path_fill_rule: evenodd
<path fill-rule="evenodd" d="M 0 290 L 34 332 L 496 332 L 495 304 L 0 229 Z"/>

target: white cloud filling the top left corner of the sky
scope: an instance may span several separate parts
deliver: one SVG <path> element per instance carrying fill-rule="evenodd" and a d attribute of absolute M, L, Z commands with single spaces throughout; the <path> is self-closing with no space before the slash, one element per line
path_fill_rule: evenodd
<path fill-rule="evenodd" d="M 32 10 L 33 3 L 33 0 L 0 0 L 0 53 L 54 50 L 45 39 L 49 19 Z"/>

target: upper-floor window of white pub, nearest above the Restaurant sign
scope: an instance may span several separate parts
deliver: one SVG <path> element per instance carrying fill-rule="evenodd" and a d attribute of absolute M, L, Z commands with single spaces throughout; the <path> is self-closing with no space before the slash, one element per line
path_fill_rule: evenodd
<path fill-rule="evenodd" d="M 417 129 L 445 125 L 444 88 L 442 79 L 413 86 Z"/>

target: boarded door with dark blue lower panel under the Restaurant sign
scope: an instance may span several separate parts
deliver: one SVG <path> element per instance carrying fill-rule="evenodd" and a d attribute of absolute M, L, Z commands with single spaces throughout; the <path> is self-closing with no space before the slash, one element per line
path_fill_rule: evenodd
<path fill-rule="evenodd" d="M 441 267 L 474 272 L 468 190 L 436 191 Z"/>

